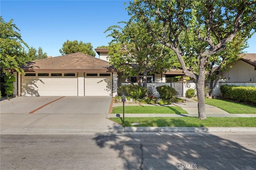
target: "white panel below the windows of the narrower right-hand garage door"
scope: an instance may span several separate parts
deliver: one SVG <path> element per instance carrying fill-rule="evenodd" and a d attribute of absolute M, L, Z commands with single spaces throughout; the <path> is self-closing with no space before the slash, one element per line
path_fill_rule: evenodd
<path fill-rule="evenodd" d="M 108 78 L 85 78 L 85 96 L 112 96 L 112 80 Z"/>

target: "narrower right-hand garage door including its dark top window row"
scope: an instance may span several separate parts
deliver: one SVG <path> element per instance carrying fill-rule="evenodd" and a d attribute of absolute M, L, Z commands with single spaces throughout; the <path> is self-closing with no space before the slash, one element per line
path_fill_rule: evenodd
<path fill-rule="evenodd" d="M 112 96 L 111 73 L 85 73 L 85 96 Z"/>

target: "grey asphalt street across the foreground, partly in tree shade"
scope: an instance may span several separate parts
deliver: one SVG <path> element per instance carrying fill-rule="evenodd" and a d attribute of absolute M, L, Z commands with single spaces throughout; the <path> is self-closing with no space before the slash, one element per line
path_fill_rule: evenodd
<path fill-rule="evenodd" d="M 255 170 L 256 133 L 1 135 L 1 170 Z"/>

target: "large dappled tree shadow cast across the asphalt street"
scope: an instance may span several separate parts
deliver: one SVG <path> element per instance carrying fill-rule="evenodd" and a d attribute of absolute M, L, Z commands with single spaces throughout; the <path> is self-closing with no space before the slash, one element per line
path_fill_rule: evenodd
<path fill-rule="evenodd" d="M 158 126 L 162 124 L 160 120 L 155 123 Z M 179 123 L 182 121 L 175 122 L 175 124 Z M 184 169 L 255 169 L 255 149 L 251 149 L 249 144 L 241 145 L 230 138 L 232 136 L 217 136 L 209 133 L 196 135 L 143 135 L 142 133 L 141 135 L 97 134 L 93 140 L 98 147 L 112 149 L 113 152 L 118 153 L 118 158 L 122 160 L 118 169 L 174 170 L 182 165 L 187 167 Z"/>

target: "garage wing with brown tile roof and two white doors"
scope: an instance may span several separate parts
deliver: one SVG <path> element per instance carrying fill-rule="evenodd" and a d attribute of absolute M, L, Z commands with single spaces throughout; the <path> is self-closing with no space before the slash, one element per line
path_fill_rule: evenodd
<path fill-rule="evenodd" d="M 27 63 L 16 75 L 14 96 L 116 96 L 117 72 L 109 62 L 73 53 Z"/>

